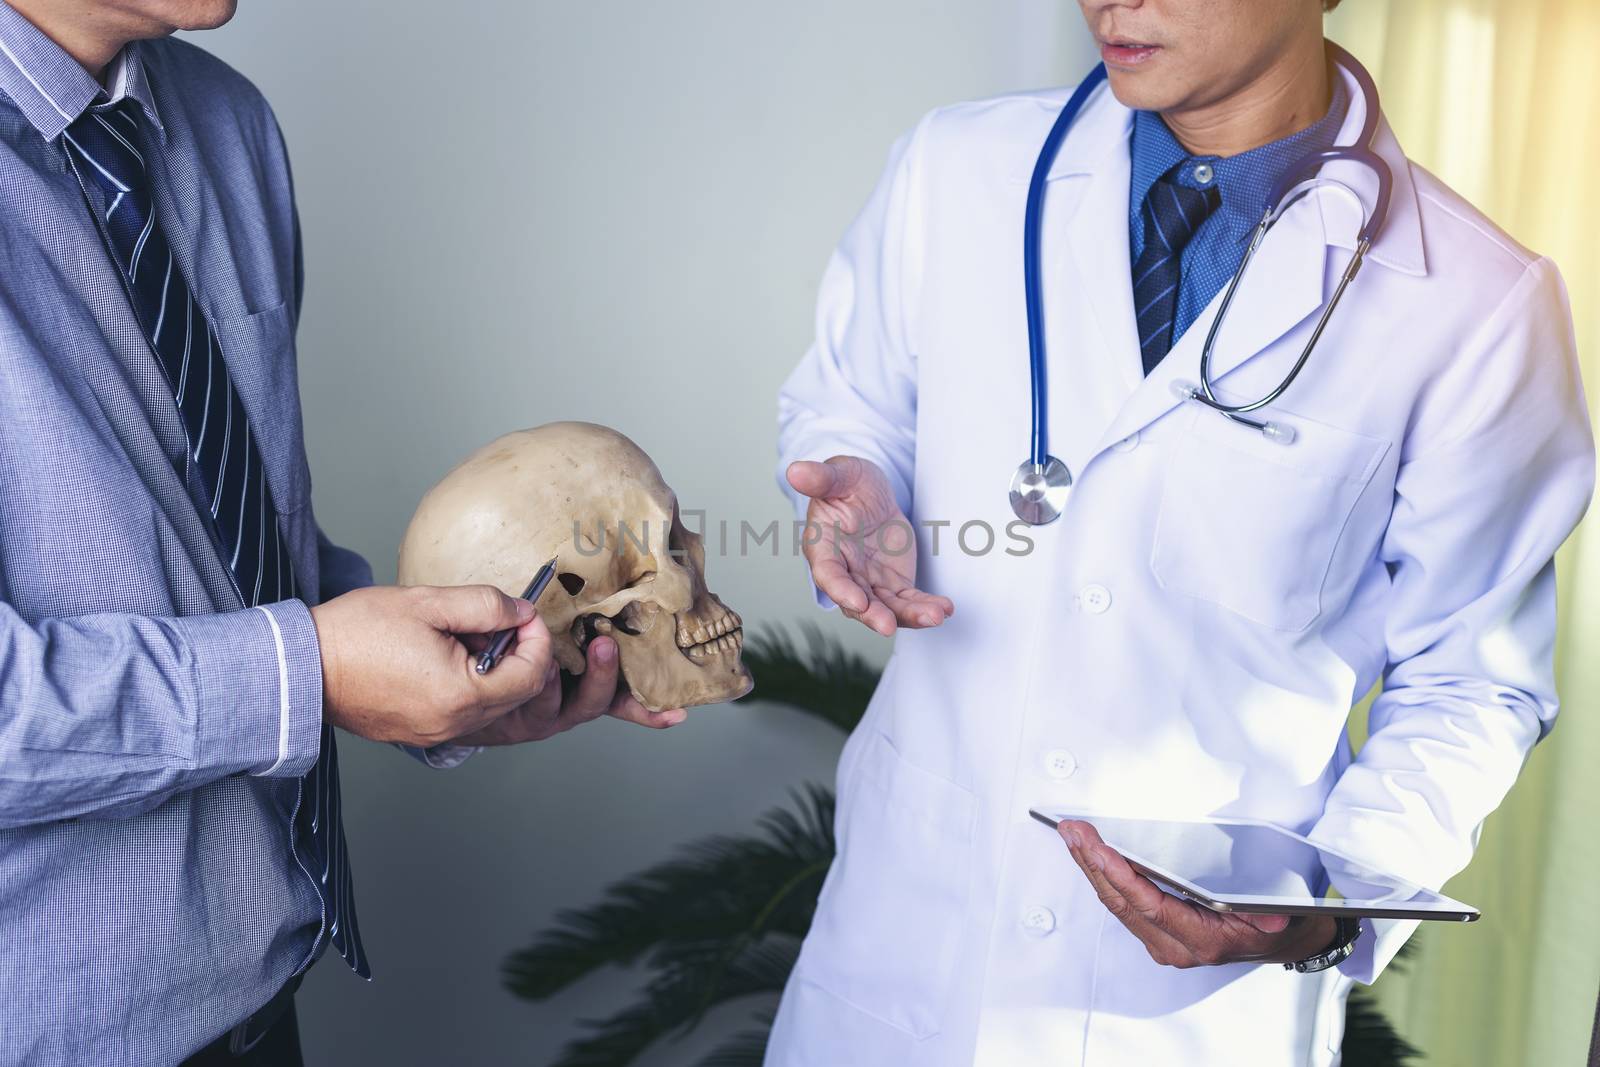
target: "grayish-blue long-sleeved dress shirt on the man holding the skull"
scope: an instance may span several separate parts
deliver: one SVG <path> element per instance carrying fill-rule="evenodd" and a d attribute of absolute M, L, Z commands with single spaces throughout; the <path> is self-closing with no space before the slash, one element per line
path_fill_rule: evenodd
<path fill-rule="evenodd" d="M 198 48 L 130 45 L 157 216 L 256 430 L 298 597 L 246 609 L 61 134 L 107 96 L 0 2 L 0 1064 L 173 1064 L 323 942 L 290 848 L 309 605 L 368 584 L 310 509 L 283 139 Z M 192 474 L 192 466 L 189 466 Z M 358 857 L 358 856 L 357 856 Z"/>

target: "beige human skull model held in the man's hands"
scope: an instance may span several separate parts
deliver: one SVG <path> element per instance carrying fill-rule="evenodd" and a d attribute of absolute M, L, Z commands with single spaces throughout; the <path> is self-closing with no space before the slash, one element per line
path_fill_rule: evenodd
<path fill-rule="evenodd" d="M 616 640 L 622 678 L 650 710 L 750 691 L 742 621 L 706 589 L 701 536 L 638 445 L 590 422 L 494 440 L 422 498 L 400 544 L 402 585 L 498 585 L 512 597 L 557 557 L 539 597 L 555 659 Z"/>

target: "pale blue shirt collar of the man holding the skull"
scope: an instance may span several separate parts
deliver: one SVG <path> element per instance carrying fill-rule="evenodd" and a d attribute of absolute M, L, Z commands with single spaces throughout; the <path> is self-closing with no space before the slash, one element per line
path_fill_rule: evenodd
<path fill-rule="evenodd" d="M 46 141 L 59 138 L 90 107 L 123 98 L 136 101 L 165 139 L 139 42 L 125 45 L 107 70 L 110 93 L 61 45 L 0 0 L 0 93 L 16 102 Z"/>

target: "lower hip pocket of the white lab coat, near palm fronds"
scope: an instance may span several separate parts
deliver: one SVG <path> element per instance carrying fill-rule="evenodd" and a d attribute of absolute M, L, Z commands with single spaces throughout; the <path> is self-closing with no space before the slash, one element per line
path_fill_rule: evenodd
<path fill-rule="evenodd" d="M 798 974 L 926 1038 L 955 981 L 976 801 L 907 763 L 885 734 L 866 741 Z"/>

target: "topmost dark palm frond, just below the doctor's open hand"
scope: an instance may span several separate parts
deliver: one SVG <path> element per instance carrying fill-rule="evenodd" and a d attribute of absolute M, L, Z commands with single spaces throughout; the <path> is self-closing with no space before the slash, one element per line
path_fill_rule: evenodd
<path fill-rule="evenodd" d="M 763 629 L 744 646 L 755 689 L 742 701 L 782 704 L 850 733 L 878 686 L 878 669 L 816 625 L 800 625 L 806 648 L 782 627 Z"/>

